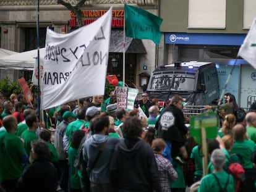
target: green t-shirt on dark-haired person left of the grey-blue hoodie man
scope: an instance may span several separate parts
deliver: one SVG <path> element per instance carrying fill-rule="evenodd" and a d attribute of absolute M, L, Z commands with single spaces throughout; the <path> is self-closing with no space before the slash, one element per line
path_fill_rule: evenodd
<path fill-rule="evenodd" d="M 74 167 L 75 157 L 77 156 L 78 149 L 74 149 L 70 146 L 67 155 L 69 156 L 69 178 L 70 178 L 70 187 L 74 189 L 80 189 L 80 177 L 78 173 L 78 169 Z"/>

